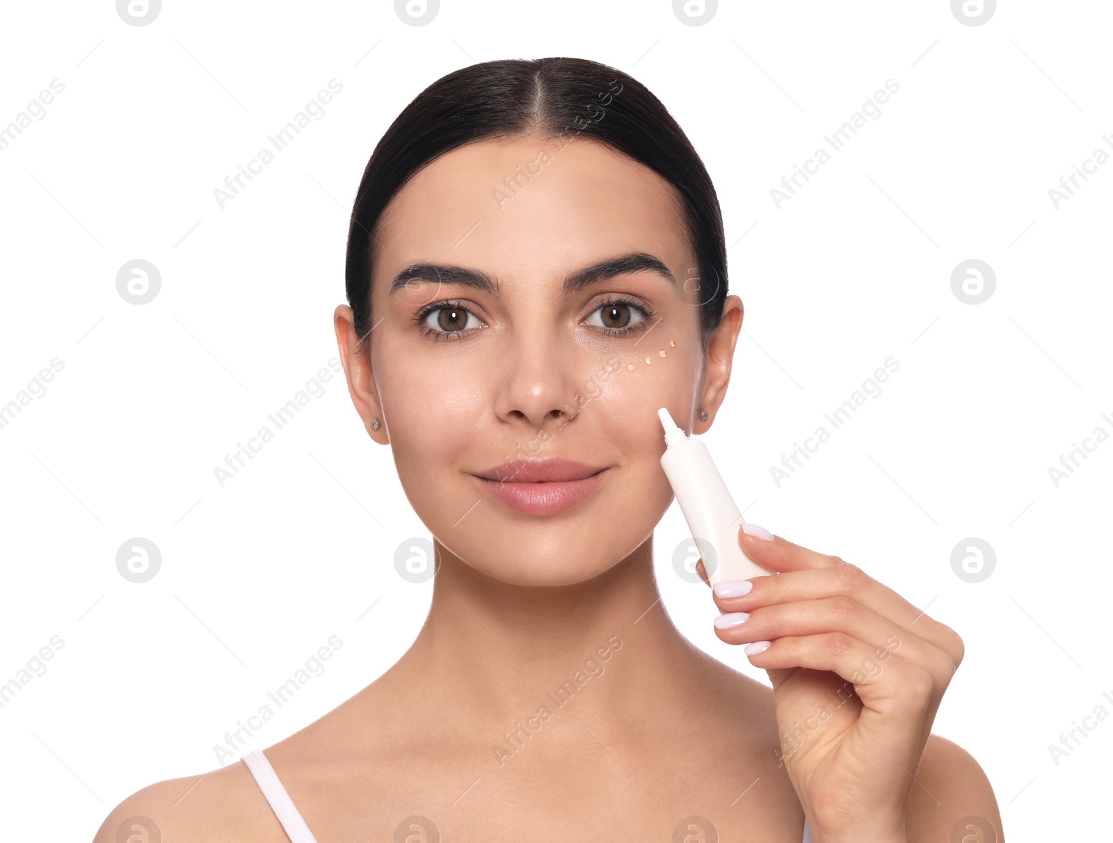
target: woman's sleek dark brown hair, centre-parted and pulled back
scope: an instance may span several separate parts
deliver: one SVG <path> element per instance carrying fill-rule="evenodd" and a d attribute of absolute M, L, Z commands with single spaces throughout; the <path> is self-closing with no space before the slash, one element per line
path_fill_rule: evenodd
<path fill-rule="evenodd" d="M 727 297 L 727 247 L 711 178 L 680 126 L 643 85 L 607 65 L 573 58 L 502 59 L 455 70 L 391 123 L 367 161 L 348 228 L 345 286 L 361 346 L 372 325 L 372 241 L 387 204 L 445 152 L 514 136 L 587 137 L 654 170 L 679 191 L 698 276 L 678 282 L 696 291 L 706 350 Z"/>

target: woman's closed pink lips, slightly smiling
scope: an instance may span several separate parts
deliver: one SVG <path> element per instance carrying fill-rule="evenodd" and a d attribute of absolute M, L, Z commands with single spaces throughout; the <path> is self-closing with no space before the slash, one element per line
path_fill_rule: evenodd
<path fill-rule="evenodd" d="M 526 515 L 554 515 L 590 497 L 609 468 L 559 457 L 496 466 L 473 475 L 496 500 Z"/>

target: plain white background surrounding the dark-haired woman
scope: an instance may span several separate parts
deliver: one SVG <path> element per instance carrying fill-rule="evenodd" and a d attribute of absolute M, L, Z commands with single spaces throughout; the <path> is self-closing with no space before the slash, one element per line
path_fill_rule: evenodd
<path fill-rule="evenodd" d="M 1113 712 L 1113 442 L 1057 487 L 1048 467 L 1113 433 L 1113 162 L 1057 209 L 1048 188 L 1113 152 L 1111 18 L 1096 0 L 1002 3 L 977 27 L 946 0 L 746 2 L 691 27 L 661 0 L 445 0 L 412 27 L 382 1 L 166 0 L 134 27 L 108 0 L 6 4 L 0 126 L 66 86 L 0 152 L 0 404 L 65 364 L 0 429 L 0 683 L 65 641 L 0 708 L 6 836 L 90 840 L 134 791 L 217 766 L 331 635 L 343 648 L 255 747 L 410 645 L 432 584 L 393 558 L 427 533 L 342 379 L 223 488 L 213 468 L 336 354 L 347 215 L 398 111 L 473 61 L 544 56 L 633 75 L 715 180 L 746 320 L 706 439 L 747 520 L 962 634 L 934 731 L 981 762 L 1014 839 L 1106 830 L 1113 722 L 1057 765 L 1048 745 Z M 221 210 L 214 188 L 331 79 L 324 118 Z M 881 116 L 778 209 L 770 188 L 887 79 Z M 134 258 L 161 276 L 144 306 L 116 289 Z M 996 275 L 979 305 L 951 288 L 968 258 Z M 883 393 L 778 487 L 770 466 L 890 356 Z M 116 568 L 136 536 L 161 552 L 145 584 Z M 672 572 L 686 537 L 673 505 L 668 612 L 766 681 Z M 952 569 L 967 537 L 995 552 L 984 582 Z"/>

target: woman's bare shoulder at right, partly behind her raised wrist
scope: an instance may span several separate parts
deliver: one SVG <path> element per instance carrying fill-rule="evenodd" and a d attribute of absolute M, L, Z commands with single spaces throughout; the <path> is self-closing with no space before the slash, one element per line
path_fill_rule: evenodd
<path fill-rule="evenodd" d="M 952 836 L 962 823 L 963 832 Z M 939 735 L 928 735 L 905 812 L 908 843 L 983 840 L 1003 843 L 1001 812 L 982 765 L 966 750 Z M 981 832 L 981 833 L 979 833 Z"/>

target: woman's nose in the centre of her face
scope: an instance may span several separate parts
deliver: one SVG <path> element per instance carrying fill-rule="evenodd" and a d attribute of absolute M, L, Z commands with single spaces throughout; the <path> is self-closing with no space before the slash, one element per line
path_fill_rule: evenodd
<path fill-rule="evenodd" d="M 494 411 L 542 429 L 563 418 L 567 424 L 585 404 L 581 369 L 590 369 L 585 353 L 555 336 L 536 333 L 487 348 L 494 357 Z"/>

